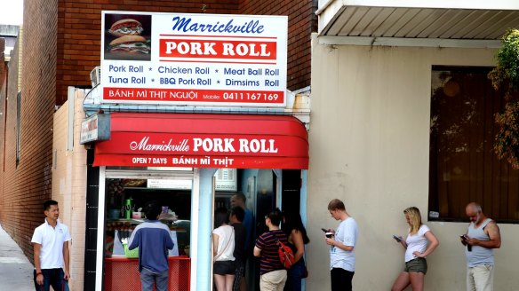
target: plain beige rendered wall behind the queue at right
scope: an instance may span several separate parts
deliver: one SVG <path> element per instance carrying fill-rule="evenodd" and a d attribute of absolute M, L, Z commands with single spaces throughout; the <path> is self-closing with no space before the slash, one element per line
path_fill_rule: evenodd
<path fill-rule="evenodd" d="M 339 198 L 359 225 L 354 289 L 389 290 L 403 270 L 403 209 L 427 223 L 431 66 L 492 66 L 494 51 L 329 46 L 313 41 L 308 171 L 307 290 L 330 287 L 321 227 L 337 228 L 328 202 Z M 484 211 L 484 209 L 483 209 Z M 464 290 L 459 234 L 465 223 L 427 223 L 440 246 L 427 258 L 426 290 Z M 516 290 L 519 227 L 500 224 L 495 290 Z"/>

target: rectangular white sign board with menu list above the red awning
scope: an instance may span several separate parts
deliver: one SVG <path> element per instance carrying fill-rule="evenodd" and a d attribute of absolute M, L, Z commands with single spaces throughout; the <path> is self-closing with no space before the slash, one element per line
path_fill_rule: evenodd
<path fill-rule="evenodd" d="M 102 103 L 286 105 L 286 16 L 102 12 L 102 23 Z"/>

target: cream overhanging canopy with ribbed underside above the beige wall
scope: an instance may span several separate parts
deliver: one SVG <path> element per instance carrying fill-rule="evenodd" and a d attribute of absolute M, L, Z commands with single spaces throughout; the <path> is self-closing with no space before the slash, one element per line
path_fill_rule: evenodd
<path fill-rule="evenodd" d="M 316 13 L 326 44 L 499 48 L 519 2 L 329 0 Z"/>

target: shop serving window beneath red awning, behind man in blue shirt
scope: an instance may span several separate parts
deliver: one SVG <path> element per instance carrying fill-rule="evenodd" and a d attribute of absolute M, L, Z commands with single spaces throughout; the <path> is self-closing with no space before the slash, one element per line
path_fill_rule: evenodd
<path fill-rule="evenodd" d="M 170 227 L 175 242 L 170 256 L 189 256 L 191 180 L 108 178 L 106 187 L 106 256 L 125 255 L 122 240 L 129 238 L 133 229 L 143 222 L 147 201 L 162 205 L 159 219 Z"/>

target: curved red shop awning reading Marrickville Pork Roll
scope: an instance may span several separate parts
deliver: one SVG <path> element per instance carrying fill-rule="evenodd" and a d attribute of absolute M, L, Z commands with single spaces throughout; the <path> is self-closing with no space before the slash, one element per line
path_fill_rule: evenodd
<path fill-rule="evenodd" d="M 94 166 L 308 169 L 307 130 L 291 116 L 110 114 Z"/>

